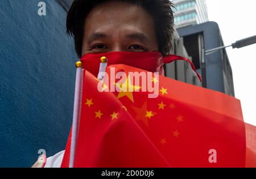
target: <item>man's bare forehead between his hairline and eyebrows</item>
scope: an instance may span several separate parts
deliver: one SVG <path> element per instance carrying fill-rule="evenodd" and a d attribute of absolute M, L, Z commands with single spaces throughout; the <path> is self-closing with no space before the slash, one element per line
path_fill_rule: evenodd
<path fill-rule="evenodd" d="M 155 35 L 154 20 L 144 8 L 119 1 L 98 5 L 85 20 L 85 35 L 95 32 L 113 35 L 122 31 Z"/>

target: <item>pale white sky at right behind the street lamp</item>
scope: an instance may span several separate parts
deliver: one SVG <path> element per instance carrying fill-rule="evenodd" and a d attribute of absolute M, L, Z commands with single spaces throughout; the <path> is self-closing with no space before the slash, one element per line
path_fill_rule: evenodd
<path fill-rule="evenodd" d="M 209 21 L 217 22 L 225 45 L 256 35 L 255 0 L 206 0 Z M 241 100 L 243 119 L 256 126 L 256 44 L 227 48 L 234 91 Z"/>

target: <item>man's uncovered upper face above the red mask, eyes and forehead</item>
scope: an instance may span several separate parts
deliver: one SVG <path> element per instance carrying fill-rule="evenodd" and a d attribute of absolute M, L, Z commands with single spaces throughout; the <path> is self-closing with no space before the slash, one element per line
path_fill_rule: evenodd
<path fill-rule="evenodd" d="M 108 2 L 93 8 L 85 20 L 82 56 L 87 53 L 158 50 L 154 20 L 142 7 Z"/>

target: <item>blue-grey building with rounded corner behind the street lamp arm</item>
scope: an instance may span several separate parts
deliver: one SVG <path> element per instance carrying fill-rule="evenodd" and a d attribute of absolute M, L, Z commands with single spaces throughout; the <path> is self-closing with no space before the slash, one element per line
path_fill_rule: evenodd
<path fill-rule="evenodd" d="M 183 38 L 188 56 L 192 57 L 197 71 L 205 58 L 207 88 L 234 96 L 232 67 L 225 49 L 204 56 L 204 50 L 224 46 L 220 28 L 215 22 L 207 22 L 177 29 Z"/>

